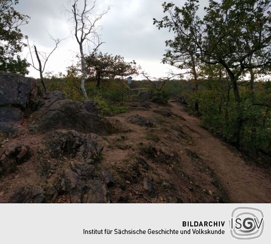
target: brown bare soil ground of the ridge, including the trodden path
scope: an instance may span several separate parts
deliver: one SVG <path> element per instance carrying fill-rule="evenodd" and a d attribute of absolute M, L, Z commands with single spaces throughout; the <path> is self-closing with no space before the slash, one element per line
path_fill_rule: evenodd
<path fill-rule="evenodd" d="M 127 105 L 128 112 L 108 118 L 114 133 L 102 137 L 104 150 L 95 163 L 97 171 L 113 176 L 111 202 L 271 202 L 270 170 L 246 163 L 238 151 L 202 129 L 199 119 L 188 115 L 183 105 L 174 101 Z M 148 123 L 134 124 L 129 120 L 132 115 Z M 0 203 L 8 202 L 20 186 L 53 184 L 55 175 L 70 164 L 69 158 L 54 161 L 43 177 L 44 135 L 26 133 L 10 141 L 31 145 L 34 156 L 0 179 Z M 0 155 L 4 149 L 5 144 Z M 58 202 L 67 201 L 59 197 Z"/>

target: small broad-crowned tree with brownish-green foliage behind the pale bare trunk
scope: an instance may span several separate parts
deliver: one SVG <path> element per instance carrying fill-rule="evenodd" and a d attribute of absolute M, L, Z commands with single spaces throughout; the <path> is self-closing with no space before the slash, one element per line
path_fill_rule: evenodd
<path fill-rule="evenodd" d="M 87 56 L 86 66 L 88 74 L 94 74 L 98 88 L 100 88 L 101 79 L 114 79 L 116 76 L 124 77 L 138 74 L 140 69 L 135 61 L 126 62 L 124 58 L 119 55 L 113 56 L 101 52 Z"/>

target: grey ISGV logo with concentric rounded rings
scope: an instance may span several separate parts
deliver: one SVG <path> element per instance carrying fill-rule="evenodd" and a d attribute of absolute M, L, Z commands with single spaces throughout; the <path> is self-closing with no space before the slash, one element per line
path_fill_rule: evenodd
<path fill-rule="evenodd" d="M 253 207 L 237 207 L 232 211 L 229 223 L 235 239 L 255 239 L 263 232 L 263 212 Z"/>

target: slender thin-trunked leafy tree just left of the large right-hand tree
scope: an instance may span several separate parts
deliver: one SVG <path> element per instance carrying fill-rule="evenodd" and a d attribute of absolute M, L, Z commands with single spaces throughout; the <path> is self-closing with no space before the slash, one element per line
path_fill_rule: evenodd
<path fill-rule="evenodd" d="M 179 75 L 189 75 L 194 85 L 194 93 L 198 92 L 198 71 L 197 67 L 200 63 L 199 56 L 196 55 L 197 45 L 191 42 L 191 39 L 199 31 L 200 19 L 197 16 L 197 8 L 194 2 L 188 2 L 183 9 L 175 7 L 173 4 L 164 3 L 164 12 L 168 12 L 169 16 L 163 18 L 162 21 L 154 19 L 154 24 L 158 28 L 167 27 L 175 32 L 176 36 L 173 40 L 166 41 L 166 53 L 162 62 L 170 64 L 178 69 L 183 70 Z M 175 11 L 172 11 L 175 7 Z M 180 18 L 181 16 L 185 18 Z M 184 27 L 185 32 L 178 25 L 172 25 L 171 20 L 178 22 L 179 26 Z M 180 30 L 180 33 L 178 32 Z M 195 110 L 199 114 L 199 102 L 195 100 Z"/>

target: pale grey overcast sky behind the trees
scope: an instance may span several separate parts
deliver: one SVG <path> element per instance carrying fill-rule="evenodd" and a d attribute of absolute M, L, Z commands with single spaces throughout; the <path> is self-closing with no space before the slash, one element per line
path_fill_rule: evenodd
<path fill-rule="evenodd" d="M 49 52 L 54 38 L 64 39 L 58 50 L 48 61 L 46 71 L 57 74 L 65 72 L 76 53 L 77 42 L 71 35 L 71 23 L 65 9 L 71 9 L 70 0 L 20 0 L 17 10 L 31 17 L 29 24 L 23 26 L 22 32 L 40 51 Z M 79 0 L 83 2 L 83 0 Z M 153 18 L 164 16 L 162 3 L 165 0 L 97 0 L 97 10 L 110 6 L 110 11 L 99 23 L 103 28 L 101 39 L 105 44 L 100 51 L 121 55 L 126 61 L 135 60 L 146 72 L 153 76 L 164 76 L 170 66 L 161 64 L 165 53 L 165 41 L 172 38 L 168 30 L 158 30 L 153 25 Z M 175 0 L 181 6 L 184 0 Z M 91 2 L 90 2 L 91 3 Z M 201 0 L 201 9 L 207 0 Z M 24 51 L 24 55 L 28 53 Z M 38 77 L 38 71 L 30 69 L 30 76 Z"/>

